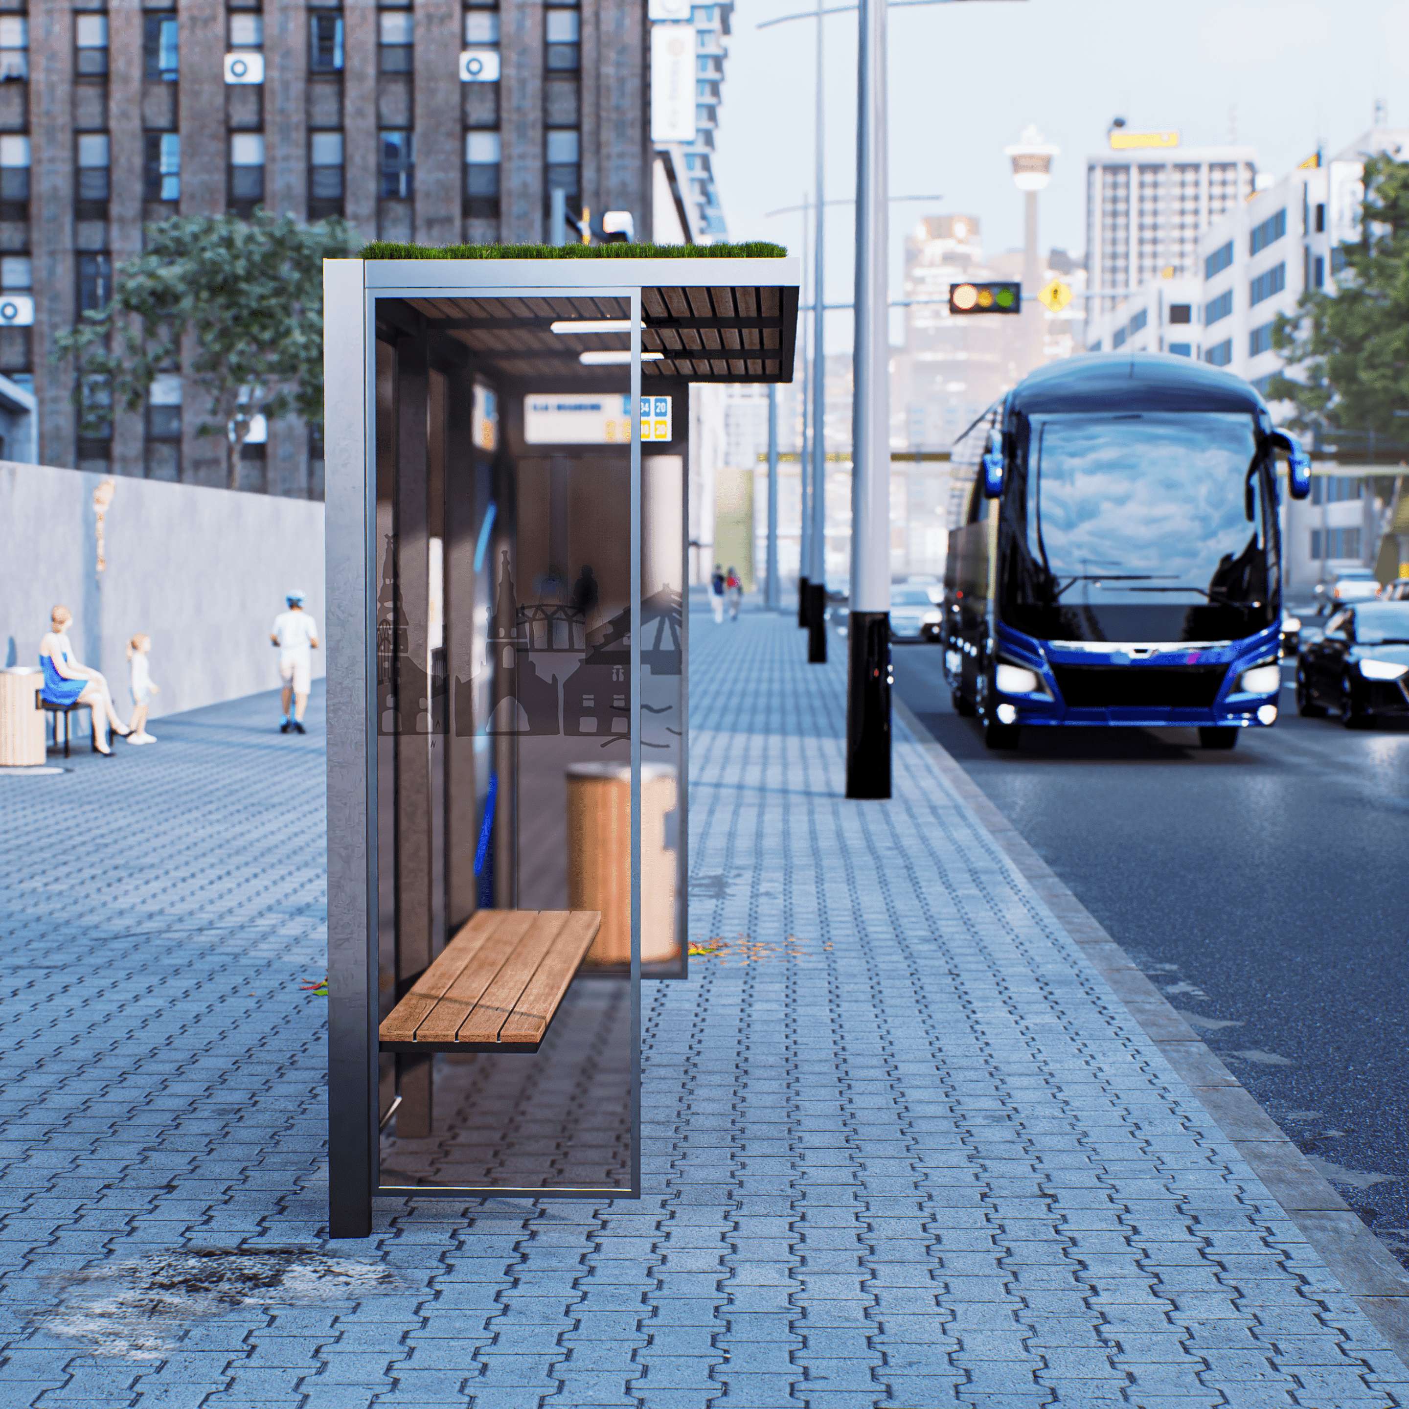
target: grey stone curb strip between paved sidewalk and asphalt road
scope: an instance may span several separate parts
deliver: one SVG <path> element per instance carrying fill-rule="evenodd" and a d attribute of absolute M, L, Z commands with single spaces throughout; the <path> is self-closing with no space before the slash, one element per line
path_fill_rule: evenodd
<path fill-rule="evenodd" d="M 1350 1209 L 1213 1050 L 1179 1017 L 1017 828 L 899 697 L 893 709 L 944 781 L 976 814 L 1027 883 L 1184 1079 L 1267 1192 L 1409 1365 L 1409 1272 Z"/>

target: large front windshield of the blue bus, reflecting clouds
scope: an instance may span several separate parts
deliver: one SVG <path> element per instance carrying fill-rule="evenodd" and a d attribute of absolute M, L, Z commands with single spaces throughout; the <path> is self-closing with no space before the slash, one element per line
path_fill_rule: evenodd
<path fill-rule="evenodd" d="M 1026 471 L 1016 604 L 1068 621 L 1076 612 L 1086 621 L 1078 634 L 1096 638 L 1112 638 L 1099 617 L 1115 607 L 1151 609 L 1115 613 L 1124 638 L 1243 635 L 1264 624 L 1274 565 L 1250 416 L 1038 414 Z"/>

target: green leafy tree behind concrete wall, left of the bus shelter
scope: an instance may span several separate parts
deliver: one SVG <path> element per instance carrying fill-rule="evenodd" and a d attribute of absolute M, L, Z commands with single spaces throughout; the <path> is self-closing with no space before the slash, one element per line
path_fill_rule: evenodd
<path fill-rule="evenodd" d="M 75 403 L 92 431 L 117 406 L 139 411 L 152 380 L 180 371 L 183 400 L 207 403 L 197 435 L 225 441 L 228 483 L 255 416 L 323 418 L 323 261 L 361 240 L 344 220 L 178 216 L 147 227 L 111 302 L 61 334 Z M 183 355 L 185 354 L 185 355 Z"/>

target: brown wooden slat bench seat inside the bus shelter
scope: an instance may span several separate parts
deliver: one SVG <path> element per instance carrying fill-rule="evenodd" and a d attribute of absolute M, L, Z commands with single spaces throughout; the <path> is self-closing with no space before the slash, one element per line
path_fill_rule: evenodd
<path fill-rule="evenodd" d="M 597 910 L 479 910 L 382 1022 L 382 1051 L 535 1053 Z"/>

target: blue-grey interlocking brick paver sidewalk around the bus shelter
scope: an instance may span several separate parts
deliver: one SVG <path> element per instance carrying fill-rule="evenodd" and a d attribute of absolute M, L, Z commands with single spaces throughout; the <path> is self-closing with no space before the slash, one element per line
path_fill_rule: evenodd
<path fill-rule="evenodd" d="M 321 721 L 0 778 L 0 1409 L 1409 1405 L 924 750 L 841 800 L 840 669 L 692 628 L 709 952 L 645 988 L 640 1202 L 321 1240 Z"/>

